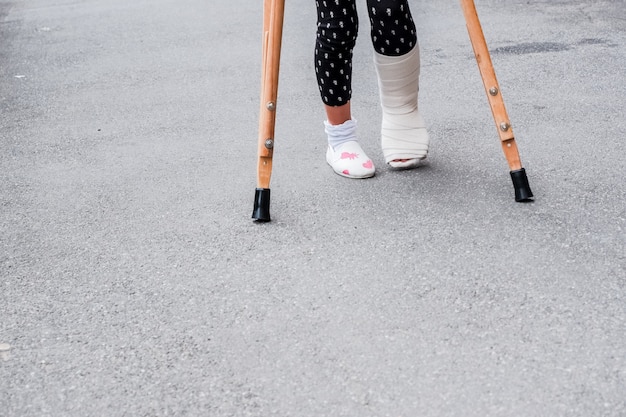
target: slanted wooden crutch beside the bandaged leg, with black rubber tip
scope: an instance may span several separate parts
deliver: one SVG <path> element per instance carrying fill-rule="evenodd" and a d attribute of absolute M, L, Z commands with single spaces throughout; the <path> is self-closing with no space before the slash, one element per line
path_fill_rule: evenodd
<path fill-rule="evenodd" d="M 500 92 L 500 86 L 496 79 L 496 73 L 493 69 L 491 56 L 489 55 L 487 42 L 485 41 L 480 20 L 478 19 L 474 0 L 461 0 L 461 7 L 465 14 L 467 31 L 469 32 L 474 55 L 476 55 L 476 62 L 478 63 L 478 69 L 480 70 L 485 91 L 487 92 L 491 112 L 493 113 L 498 134 L 500 135 L 504 156 L 511 169 L 511 179 L 513 180 L 513 187 L 515 187 L 515 201 L 531 201 L 533 193 L 528 184 L 526 170 L 522 168 L 519 151 L 515 143 L 515 137 L 513 136 L 513 129 L 506 108 L 504 107 L 504 100 L 502 99 L 502 93 Z"/>

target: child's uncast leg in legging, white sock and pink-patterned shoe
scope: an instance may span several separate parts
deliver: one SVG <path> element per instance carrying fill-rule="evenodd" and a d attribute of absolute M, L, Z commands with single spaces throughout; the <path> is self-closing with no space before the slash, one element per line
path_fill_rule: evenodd
<path fill-rule="evenodd" d="M 358 143 L 352 120 L 352 51 L 358 33 L 355 0 L 316 0 L 315 73 L 328 120 L 326 161 L 349 178 L 374 175 L 374 165 Z"/>

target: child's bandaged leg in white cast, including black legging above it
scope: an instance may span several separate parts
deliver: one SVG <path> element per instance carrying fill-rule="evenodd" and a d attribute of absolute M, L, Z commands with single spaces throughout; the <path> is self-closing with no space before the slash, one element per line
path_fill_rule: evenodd
<path fill-rule="evenodd" d="M 420 56 L 407 0 L 368 0 L 374 63 L 383 110 L 381 144 L 392 167 L 412 168 L 428 153 L 418 112 Z"/>

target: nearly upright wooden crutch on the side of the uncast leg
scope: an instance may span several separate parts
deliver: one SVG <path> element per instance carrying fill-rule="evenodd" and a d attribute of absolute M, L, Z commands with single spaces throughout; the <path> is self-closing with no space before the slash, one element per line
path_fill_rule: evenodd
<path fill-rule="evenodd" d="M 263 1 L 263 55 L 261 71 L 261 109 L 259 113 L 259 138 L 257 162 L 257 187 L 254 195 L 252 218 L 269 222 L 270 178 L 274 154 L 274 127 L 276 125 L 276 99 L 280 48 L 283 37 L 285 0 Z"/>

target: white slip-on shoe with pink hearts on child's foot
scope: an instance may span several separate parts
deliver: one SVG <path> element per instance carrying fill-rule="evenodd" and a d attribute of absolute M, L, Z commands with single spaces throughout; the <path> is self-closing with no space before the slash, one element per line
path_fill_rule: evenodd
<path fill-rule="evenodd" d="M 347 178 L 370 178 L 376 171 L 357 141 L 344 142 L 334 149 L 328 145 L 326 162 L 335 173 Z"/>

